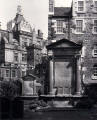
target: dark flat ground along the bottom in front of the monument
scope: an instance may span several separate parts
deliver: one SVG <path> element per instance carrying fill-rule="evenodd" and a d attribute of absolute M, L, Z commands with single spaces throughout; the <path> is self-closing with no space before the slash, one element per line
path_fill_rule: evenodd
<path fill-rule="evenodd" d="M 26 111 L 23 120 L 97 120 L 97 110 Z"/>

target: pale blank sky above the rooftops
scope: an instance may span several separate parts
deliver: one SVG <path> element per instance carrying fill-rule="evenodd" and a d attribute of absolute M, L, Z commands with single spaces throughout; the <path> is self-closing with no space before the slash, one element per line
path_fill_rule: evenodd
<path fill-rule="evenodd" d="M 72 0 L 55 0 L 55 6 L 70 6 Z M 1 28 L 6 29 L 7 22 L 12 20 L 21 5 L 25 19 L 32 28 L 42 30 L 44 37 L 48 31 L 48 0 L 0 0 Z"/>

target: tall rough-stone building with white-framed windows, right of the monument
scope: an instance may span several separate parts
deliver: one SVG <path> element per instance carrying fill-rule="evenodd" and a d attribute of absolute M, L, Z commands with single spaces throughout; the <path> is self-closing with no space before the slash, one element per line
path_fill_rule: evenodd
<path fill-rule="evenodd" d="M 52 5 L 52 7 L 54 7 L 54 5 Z M 52 14 L 50 12 L 50 14 L 48 15 L 52 16 L 51 18 L 53 18 L 53 16 L 55 15 L 55 8 L 56 7 L 52 9 Z M 59 7 L 58 9 L 60 13 L 60 9 L 62 8 Z M 66 7 L 64 7 L 61 13 L 65 13 L 67 10 Z M 80 71 L 81 75 L 80 80 L 83 84 L 86 85 L 95 84 L 97 83 L 97 0 L 72 0 L 71 12 L 72 17 L 70 17 L 69 22 L 70 29 L 68 29 L 70 30 L 68 31 L 69 37 L 67 38 L 66 34 L 64 33 L 63 36 L 65 36 L 64 38 L 67 38 L 74 43 L 82 45 L 79 58 L 80 62 L 78 64 L 78 70 Z M 61 19 L 59 15 L 56 16 L 56 21 L 57 18 Z M 65 18 L 65 16 L 63 16 L 63 18 Z M 48 19 L 50 20 L 50 17 L 48 17 Z M 64 24 L 60 24 L 60 27 L 63 27 L 64 29 Z M 48 26 L 48 31 L 49 30 L 50 28 Z M 58 35 L 58 37 L 56 35 L 56 32 L 52 34 L 55 35 L 54 37 L 56 40 L 61 39 L 60 34 Z"/>

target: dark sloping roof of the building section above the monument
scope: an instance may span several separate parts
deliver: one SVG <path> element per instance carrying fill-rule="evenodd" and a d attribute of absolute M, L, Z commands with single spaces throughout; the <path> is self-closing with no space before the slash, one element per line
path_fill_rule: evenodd
<path fill-rule="evenodd" d="M 54 16 L 72 16 L 72 8 L 54 7 Z"/>

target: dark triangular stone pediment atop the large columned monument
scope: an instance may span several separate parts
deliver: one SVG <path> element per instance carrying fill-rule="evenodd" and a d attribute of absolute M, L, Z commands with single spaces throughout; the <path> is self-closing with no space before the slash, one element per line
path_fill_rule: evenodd
<path fill-rule="evenodd" d="M 47 49 L 54 49 L 54 48 L 81 48 L 81 44 L 77 44 L 67 39 L 59 40 L 55 43 L 51 43 L 47 46 Z"/>

